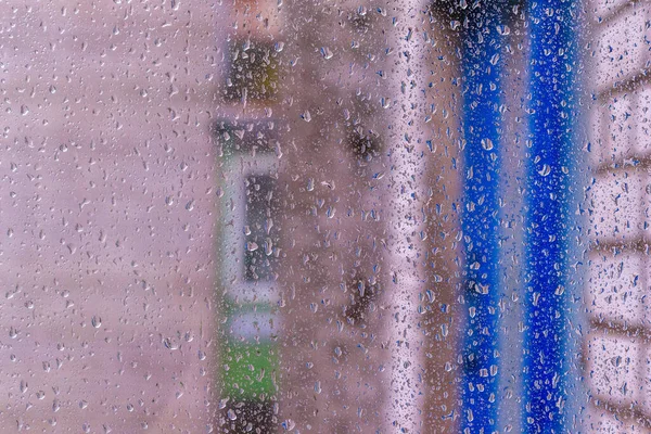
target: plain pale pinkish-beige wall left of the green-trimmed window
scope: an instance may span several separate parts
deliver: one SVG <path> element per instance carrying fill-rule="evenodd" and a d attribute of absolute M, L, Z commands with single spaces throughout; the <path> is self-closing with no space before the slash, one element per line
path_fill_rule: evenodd
<path fill-rule="evenodd" d="M 218 11 L 0 16 L 2 431 L 205 432 Z"/>

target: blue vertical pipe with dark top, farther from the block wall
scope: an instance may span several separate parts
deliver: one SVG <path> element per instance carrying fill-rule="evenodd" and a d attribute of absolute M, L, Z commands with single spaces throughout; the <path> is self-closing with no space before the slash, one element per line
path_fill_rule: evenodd
<path fill-rule="evenodd" d="M 497 429 L 499 302 L 500 51 L 505 1 L 467 12 L 462 30 L 464 298 L 462 432 Z M 470 9 L 470 8 L 469 8 Z"/>

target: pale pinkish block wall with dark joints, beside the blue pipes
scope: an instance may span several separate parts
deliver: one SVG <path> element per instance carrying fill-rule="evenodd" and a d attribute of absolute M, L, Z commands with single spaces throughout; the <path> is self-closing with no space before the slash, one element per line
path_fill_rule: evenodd
<path fill-rule="evenodd" d="M 586 427 L 596 433 L 647 433 L 651 427 L 649 322 L 648 79 L 651 7 L 646 1 L 592 1 L 588 5 L 593 88 L 588 191 L 589 271 L 584 341 L 591 407 Z"/>

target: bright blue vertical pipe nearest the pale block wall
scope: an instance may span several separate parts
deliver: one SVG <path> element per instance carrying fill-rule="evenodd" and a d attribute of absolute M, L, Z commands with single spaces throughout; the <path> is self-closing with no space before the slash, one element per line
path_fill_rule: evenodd
<path fill-rule="evenodd" d="M 531 149 L 527 157 L 523 426 L 564 432 L 570 359 L 565 306 L 576 2 L 529 1 Z"/>

